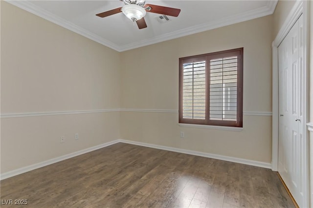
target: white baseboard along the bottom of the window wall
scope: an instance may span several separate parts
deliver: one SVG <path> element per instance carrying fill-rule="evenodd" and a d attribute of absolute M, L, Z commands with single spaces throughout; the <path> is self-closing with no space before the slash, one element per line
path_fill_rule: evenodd
<path fill-rule="evenodd" d="M 242 158 L 229 157 L 229 156 L 211 154 L 211 153 L 206 153 L 206 152 L 198 152 L 198 151 L 180 149 L 180 148 L 169 147 L 169 146 L 160 146 L 160 145 L 153 145 L 153 144 L 142 143 L 142 142 L 134 142 L 130 140 L 119 140 L 119 141 L 121 143 L 127 143 L 127 144 L 138 145 L 138 146 L 146 146 L 146 147 L 151 147 L 151 148 L 156 148 L 156 149 L 163 149 L 163 150 L 172 151 L 172 152 L 179 152 L 179 153 L 196 155 L 196 156 L 201 156 L 201 157 L 206 157 L 206 158 L 213 158 L 213 159 L 224 160 L 224 161 L 229 161 L 233 163 L 240 163 L 240 164 L 245 164 L 245 165 L 250 165 L 250 166 L 265 167 L 269 169 L 271 167 L 270 163 L 246 160 Z"/>

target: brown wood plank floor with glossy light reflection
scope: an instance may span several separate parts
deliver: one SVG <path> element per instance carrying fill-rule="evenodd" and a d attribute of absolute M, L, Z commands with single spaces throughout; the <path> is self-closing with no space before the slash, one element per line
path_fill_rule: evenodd
<path fill-rule="evenodd" d="M 293 208 L 270 169 L 118 143 L 0 182 L 30 208 Z"/>

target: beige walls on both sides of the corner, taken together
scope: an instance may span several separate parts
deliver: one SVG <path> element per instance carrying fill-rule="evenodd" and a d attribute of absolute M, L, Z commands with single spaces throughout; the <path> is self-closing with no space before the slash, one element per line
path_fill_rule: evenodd
<path fill-rule="evenodd" d="M 272 16 L 118 53 L 7 2 L 0 5 L 1 114 L 175 111 L 179 57 L 239 47 L 244 111 L 271 112 Z M 270 116 L 244 115 L 237 132 L 180 127 L 178 113 L 103 112 L 2 118 L 1 173 L 116 139 L 271 161 Z"/>

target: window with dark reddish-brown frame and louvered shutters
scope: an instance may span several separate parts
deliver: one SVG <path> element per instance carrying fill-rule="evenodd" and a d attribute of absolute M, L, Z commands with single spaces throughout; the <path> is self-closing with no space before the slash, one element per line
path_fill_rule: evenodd
<path fill-rule="evenodd" d="M 243 51 L 179 59 L 179 123 L 243 126 Z"/>

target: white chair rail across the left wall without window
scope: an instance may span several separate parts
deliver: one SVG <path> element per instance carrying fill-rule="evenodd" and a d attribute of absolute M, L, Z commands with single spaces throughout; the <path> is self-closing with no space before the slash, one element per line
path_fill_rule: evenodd
<path fill-rule="evenodd" d="M 28 112 L 28 113 L 5 113 L 1 114 L 0 118 L 20 118 L 20 117 L 33 117 L 33 116 L 57 116 L 67 114 L 80 114 L 80 113 L 103 113 L 103 112 L 119 112 L 119 109 L 101 109 L 101 110 L 75 110 L 75 111 L 52 111 L 52 112 Z"/>

